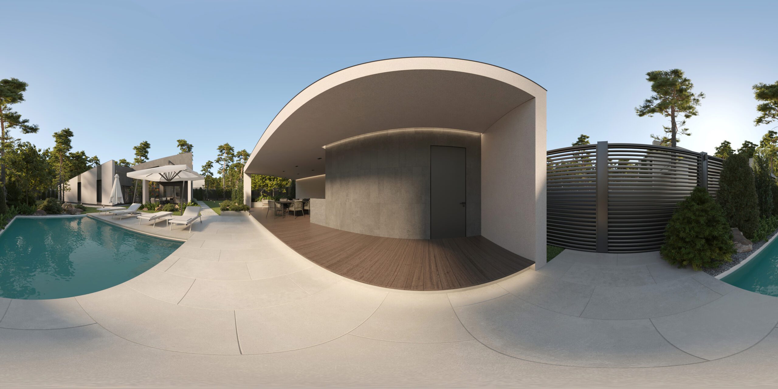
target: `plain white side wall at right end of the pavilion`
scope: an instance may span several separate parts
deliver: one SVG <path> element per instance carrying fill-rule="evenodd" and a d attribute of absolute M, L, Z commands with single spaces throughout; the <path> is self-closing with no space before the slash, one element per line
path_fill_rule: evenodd
<path fill-rule="evenodd" d="M 545 98 L 521 104 L 482 135 L 482 236 L 545 265 Z M 502 206 L 499 206 L 502 205 Z"/>

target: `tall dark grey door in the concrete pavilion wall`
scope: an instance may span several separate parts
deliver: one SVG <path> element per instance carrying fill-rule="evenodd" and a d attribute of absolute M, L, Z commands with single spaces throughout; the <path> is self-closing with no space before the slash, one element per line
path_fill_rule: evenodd
<path fill-rule="evenodd" d="M 465 149 L 431 146 L 429 153 L 429 237 L 464 237 Z"/>

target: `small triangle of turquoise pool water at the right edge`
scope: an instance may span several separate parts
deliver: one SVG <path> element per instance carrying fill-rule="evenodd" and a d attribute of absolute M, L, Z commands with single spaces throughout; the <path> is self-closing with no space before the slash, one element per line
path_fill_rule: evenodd
<path fill-rule="evenodd" d="M 778 244 L 770 242 L 751 261 L 721 281 L 768 296 L 778 296 Z"/>

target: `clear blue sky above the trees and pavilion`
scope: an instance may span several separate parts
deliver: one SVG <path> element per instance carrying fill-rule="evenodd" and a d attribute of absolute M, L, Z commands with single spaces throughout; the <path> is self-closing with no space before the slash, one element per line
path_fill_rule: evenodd
<path fill-rule="evenodd" d="M 645 73 L 682 68 L 705 92 L 681 146 L 758 142 L 751 86 L 778 80 L 778 2 L 2 2 L 0 78 L 29 82 L 17 110 L 39 147 L 132 159 L 230 142 L 251 152 L 311 82 L 366 61 L 440 56 L 508 68 L 548 89 L 548 148 L 577 135 L 650 142 Z"/>

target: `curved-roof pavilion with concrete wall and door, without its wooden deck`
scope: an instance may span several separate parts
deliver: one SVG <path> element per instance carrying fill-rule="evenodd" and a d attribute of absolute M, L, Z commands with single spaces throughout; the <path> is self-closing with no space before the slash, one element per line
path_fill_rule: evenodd
<path fill-rule="evenodd" d="M 248 160 L 296 180 L 310 221 L 375 237 L 482 236 L 545 264 L 545 97 L 494 65 L 394 58 L 345 68 L 286 104 Z"/>

